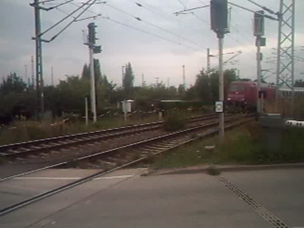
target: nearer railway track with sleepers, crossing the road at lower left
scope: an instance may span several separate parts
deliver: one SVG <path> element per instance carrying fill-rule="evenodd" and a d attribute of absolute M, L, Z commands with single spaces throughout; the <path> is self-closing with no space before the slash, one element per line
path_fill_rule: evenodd
<path fill-rule="evenodd" d="M 249 121 L 253 121 L 252 115 L 234 116 L 227 118 L 225 121 L 225 129 L 233 128 L 244 124 Z M 80 157 L 73 161 L 62 162 L 55 164 L 51 168 L 70 168 L 70 167 L 89 167 L 98 168 L 95 174 L 89 175 L 85 178 L 78 179 L 69 184 L 62 185 L 60 187 L 48 190 L 46 192 L 35 195 L 31 198 L 0 209 L 0 216 L 26 206 L 30 203 L 36 202 L 37 200 L 46 198 L 50 195 L 54 195 L 58 192 L 64 191 L 68 188 L 80 185 L 86 181 L 92 180 L 98 176 L 107 174 L 120 168 L 124 168 L 139 162 L 143 162 L 151 156 L 164 153 L 165 151 L 172 150 L 176 147 L 192 142 L 194 140 L 213 136 L 218 133 L 218 129 L 215 128 L 218 125 L 217 121 L 212 123 L 200 124 L 185 130 L 169 133 L 166 135 L 154 137 L 147 140 L 142 140 L 137 143 L 131 143 L 122 147 L 117 147 L 111 150 L 101 151 L 99 153 L 91 154 L 89 156 Z M 46 167 L 50 168 L 50 167 Z M 40 169 L 41 170 L 41 169 Z M 27 172 L 29 173 L 29 172 Z M 27 174 L 24 173 L 24 174 Z M 22 174 L 22 175 L 24 175 Z M 20 176 L 21 174 L 19 174 Z M 11 177 L 13 178 L 13 177 Z M 9 178 L 6 178 L 9 179 Z"/>

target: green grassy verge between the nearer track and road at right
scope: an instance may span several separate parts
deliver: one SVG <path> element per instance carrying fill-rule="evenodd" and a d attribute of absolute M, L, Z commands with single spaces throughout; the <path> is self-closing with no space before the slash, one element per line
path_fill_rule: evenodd
<path fill-rule="evenodd" d="M 153 167 L 173 168 L 200 164 L 274 164 L 304 161 L 303 129 L 285 129 L 279 150 L 269 150 L 257 123 L 226 132 L 220 142 L 217 137 L 196 141 L 175 149 L 158 159 Z M 215 145 L 210 152 L 205 146 Z"/>

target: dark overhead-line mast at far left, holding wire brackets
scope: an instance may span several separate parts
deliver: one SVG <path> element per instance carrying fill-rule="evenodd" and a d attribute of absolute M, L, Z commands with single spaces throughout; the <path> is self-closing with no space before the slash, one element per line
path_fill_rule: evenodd
<path fill-rule="evenodd" d="M 40 97 L 41 101 L 41 116 L 44 113 L 44 102 L 43 102 L 43 67 L 42 67 L 42 42 L 41 42 L 41 23 L 40 23 L 40 2 L 34 0 L 33 4 L 35 11 L 35 42 L 36 42 L 36 89 L 37 97 Z"/>

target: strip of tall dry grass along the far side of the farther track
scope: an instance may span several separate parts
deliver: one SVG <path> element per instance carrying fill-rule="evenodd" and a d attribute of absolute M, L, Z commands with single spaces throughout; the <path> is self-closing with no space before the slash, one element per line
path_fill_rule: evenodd
<path fill-rule="evenodd" d="M 183 118 L 199 115 L 202 113 L 205 112 L 192 112 L 188 110 L 175 111 L 175 114 Z M 68 117 L 69 120 L 63 123 L 62 120 L 66 117 Z M 103 117 L 99 118 L 95 124 L 93 124 L 92 121 L 89 121 L 88 127 L 85 126 L 84 120 L 80 120 L 79 118 L 75 117 L 75 115 L 71 114 L 66 114 L 63 118 L 47 118 L 44 121 L 15 121 L 10 126 L 4 126 L 0 129 L 0 145 L 139 123 L 149 123 L 154 121 L 158 121 L 157 113 L 141 114 L 138 112 L 128 116 L 127 121 L 124 121 L 122 116 Z"/>

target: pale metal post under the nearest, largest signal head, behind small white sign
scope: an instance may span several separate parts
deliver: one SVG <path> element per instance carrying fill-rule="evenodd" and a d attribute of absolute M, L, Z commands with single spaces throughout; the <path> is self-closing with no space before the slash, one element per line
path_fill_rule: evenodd
<path fill-rule="evenodd" d="M 219 38 L 219 101 L 224 101 L 223 42 L 224 34 Z M 224 113 L 219 113 L 219 137 L 224 137 Z"/>

